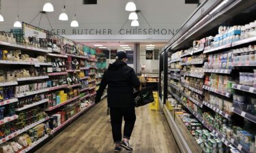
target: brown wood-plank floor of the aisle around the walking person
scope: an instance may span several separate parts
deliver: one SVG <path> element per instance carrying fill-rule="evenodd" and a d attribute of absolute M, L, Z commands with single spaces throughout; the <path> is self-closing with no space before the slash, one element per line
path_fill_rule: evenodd
<path fill-rule="evenodd" d="M 144 106 L 136 109 L 136 114 L 137 121 L 130 140 L 134 153 L 180 153 L 162 113 Z M 111 124 L 104 99 L 36 152 L 113 153 L 113 149 Z"/>

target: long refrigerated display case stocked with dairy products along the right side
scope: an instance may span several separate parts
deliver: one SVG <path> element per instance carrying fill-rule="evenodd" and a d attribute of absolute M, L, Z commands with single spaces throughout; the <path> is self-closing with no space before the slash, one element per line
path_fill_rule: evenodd
<path fill-rule="evenodd" d="M 240 20 L 255 4 L 205 1 L 162 49 L 160 99 L 181 152 L 255 153 L 256 21 Z"/>

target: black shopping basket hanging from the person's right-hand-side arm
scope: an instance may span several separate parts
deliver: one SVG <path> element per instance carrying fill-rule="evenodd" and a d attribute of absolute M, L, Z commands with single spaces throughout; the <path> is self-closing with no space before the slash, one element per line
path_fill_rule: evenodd
<path fill-rule="evenodd" d="M 143 105 L 147 105 L 148 103 L 154 102 L 152 88 L 145 88 L 143 90 L 134 92 L 133 96 L 134 96 L 135 107 L 140 107 Z"/>

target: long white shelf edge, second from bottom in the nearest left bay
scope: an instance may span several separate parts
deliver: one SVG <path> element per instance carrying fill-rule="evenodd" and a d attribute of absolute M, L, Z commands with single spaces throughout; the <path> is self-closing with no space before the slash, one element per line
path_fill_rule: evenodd
<path fill-rule="evenodd" d="M 35 123 L 33 123 L 29 126 L 26 126 L 24 129 L 21 129 L 19 131 L 16 131 L 16 132 L 10 134 L 10 135 L 7 135 L 6 137 L 0 139 L 0 144 L 4 143 L 5 141 L 8 141 L 9 139 L 12 139 L 12 138 L 16 137 L 17 135 L 20 135 L 21 133 L 24 133 L 25 131 L 28 131 L 29 129 L 33 128 L 34 126 L 37 126 L 38 124 L 41 124 L 42 122 L 44 122 L 48 119 L 49 119 L 49 117 L 46 117 L 42 120 L 39 120 L 38 122 L 35 122 Z"/>

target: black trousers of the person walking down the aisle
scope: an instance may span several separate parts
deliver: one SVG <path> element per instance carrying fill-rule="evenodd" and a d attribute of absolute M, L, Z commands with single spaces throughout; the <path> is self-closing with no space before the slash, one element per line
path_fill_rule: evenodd
<path fill-rule="evenodd" d="M 115 143 L 122 141 L 122 121 L 124 117 L 124 138 L 130 139 L 136 120 L 135 107 L 111 107 L 111 126 Z"/>

